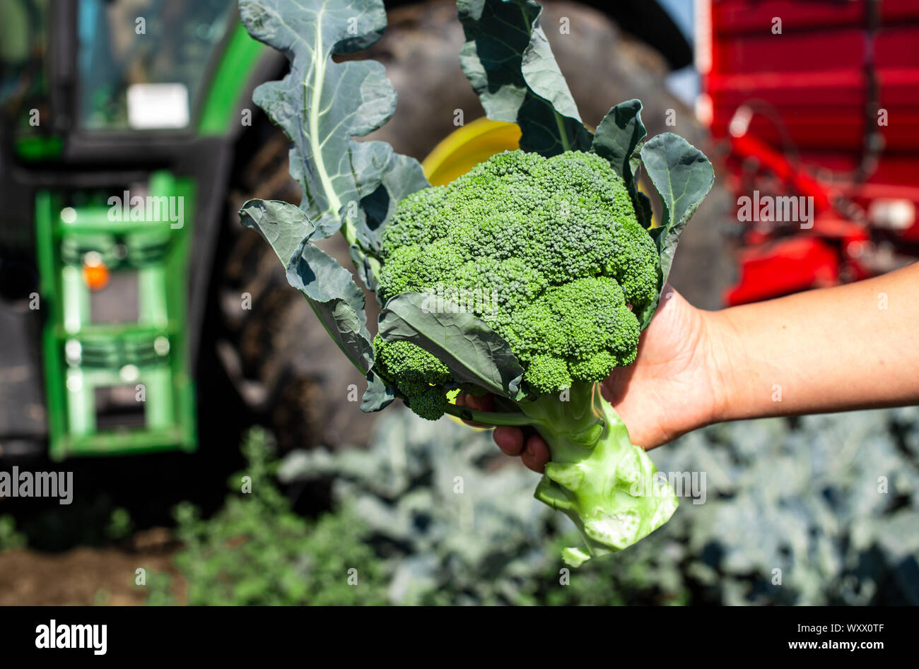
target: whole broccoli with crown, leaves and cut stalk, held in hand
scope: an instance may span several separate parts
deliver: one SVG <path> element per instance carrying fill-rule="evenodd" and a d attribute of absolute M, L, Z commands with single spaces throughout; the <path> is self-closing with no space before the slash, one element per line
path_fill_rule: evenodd
<path fill-rule="evenodd" d="M 519 150 L 430 187 L 413 158 L 353 139 L 395 110 L 380 63 L 333 60 L 380 37 L 380 0 L 241 0 L 240 8 L 250 34 L 289 57 L 289 74 L 254 99 L 287 134 L 303 194 L 300 207 L 250 200 L 241 218 L 366 375 L 361 408 L 400 398 L 428 419 L 448 413 L 537 430 L 551 462 L 536 496 L 584 539 L 563 552 L 572 565 L 664 524 L 675 494 L 598 383 L 635 359 L 679 235 L 713 182 L 705 155 L 671 133 L 646 141 L 638 100 L 587 130 L 539 27 L 539 5 L 459 0 L 463 70 L 488 116 L 522 134 Z M 656 226 L 638 188 L 642 167 L 662 202 Z M 380 301 L 375 335 L 351 272 L 315 244 L 335 232 Z M 500 410 L 459 407 L 458 391 L 491 392 Z"/>

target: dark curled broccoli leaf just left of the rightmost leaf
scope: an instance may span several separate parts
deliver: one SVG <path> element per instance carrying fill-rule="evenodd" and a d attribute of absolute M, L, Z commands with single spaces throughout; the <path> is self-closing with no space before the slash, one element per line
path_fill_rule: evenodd
<path fill-rule="evenodd" d="M 602 155 L 629 188 L 632 205 L 641 226 L 651 227 L 651 201 L 638 189 L 638 156 L 648 132 L 641 122 L 641 100 L 631 99 L 611 108 L 600 121 L 591 151 Z"/>

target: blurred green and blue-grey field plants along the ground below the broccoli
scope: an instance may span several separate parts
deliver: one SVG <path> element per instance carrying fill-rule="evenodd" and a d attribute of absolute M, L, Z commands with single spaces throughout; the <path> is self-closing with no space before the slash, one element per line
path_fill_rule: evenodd
<path fill-rule="evenodd" d="M 648 539 L 570 573 L 573 526 L 485 431 L 391 410 L 368 449 L 276 462 L 260 429 L 243 448 L 216 515 L 176 508 L 188 604 L 919 604 L 919 408 L 713 425 L 658 448 L 662 471 L 706 472 L 704 504 L 684 498 Z M 332 510 L 301 516 L 317 490 Z M 168 578 L 150 589 L 174 601 Z"/>

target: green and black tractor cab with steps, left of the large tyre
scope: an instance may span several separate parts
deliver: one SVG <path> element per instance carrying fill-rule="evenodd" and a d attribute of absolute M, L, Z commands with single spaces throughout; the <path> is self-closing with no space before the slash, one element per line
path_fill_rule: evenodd
<path fill-rule="evenodd" d="M 283 66 L 233 0 L 0 6 L 0 455 L 196 448 L 236 149 Z"/>

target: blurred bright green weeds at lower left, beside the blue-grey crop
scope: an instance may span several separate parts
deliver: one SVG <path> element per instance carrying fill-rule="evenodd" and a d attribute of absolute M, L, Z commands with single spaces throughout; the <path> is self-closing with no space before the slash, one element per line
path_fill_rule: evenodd
<path fill-rule="evenodd" d="M 343 507 L 305 519 L 275 482 L 270 437 L 244 437 L 244 471 L 210 518 L 176 506 L 176 569 L 191 606 L 343 606 L 386 603 L 385 573 L 365 543 L 363 524 Z M 245 480 L 244 480 L 245 477 Z M 147 604 L 175 603 L 168 574 L 154 573 Z"/>

